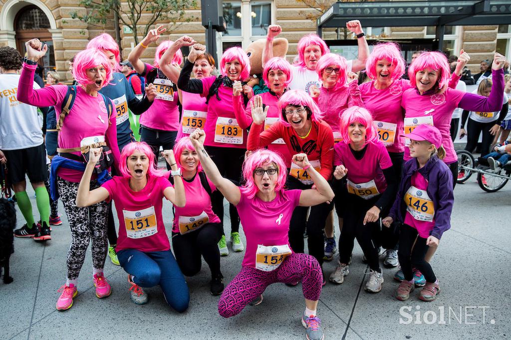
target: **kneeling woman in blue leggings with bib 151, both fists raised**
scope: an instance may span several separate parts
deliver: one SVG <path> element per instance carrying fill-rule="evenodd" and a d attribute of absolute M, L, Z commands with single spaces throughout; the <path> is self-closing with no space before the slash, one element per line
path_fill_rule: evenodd
<path fill-rule="evenodd" d="M 122 176 L 114 176 L 101 187 L 90 190 L 90 175 L 101 156 L 101 149 L 90 149 L 76 205 L 86 207 L 103 200 L 114 201 L 119 217 L 119 240 L 115 250 L 128 273 L 131 300 L 136 304 L 147 303 L 142 287 L 159 284 L 167 303 L 183 312 L 188 308 L 190 293 L 170 250 L 161 206 L 164 197 L 178 207 L 183 207 L 186 200 L 174 153 L 166 150 L 162 154 L 171 165 L 174 188 L 155 167 L 151 147 L 144 142 L 132 142 L 121 153 Z"/>

